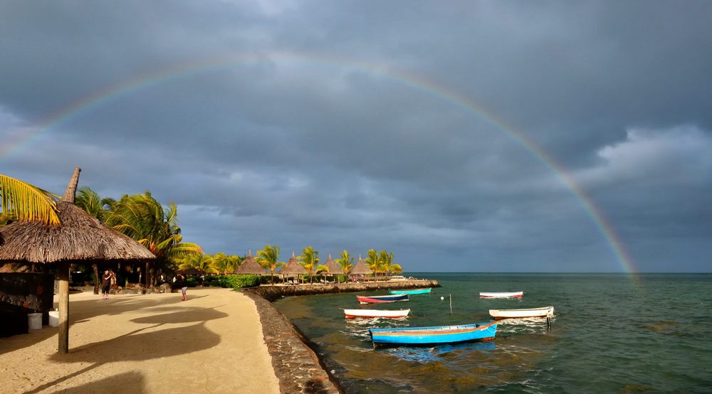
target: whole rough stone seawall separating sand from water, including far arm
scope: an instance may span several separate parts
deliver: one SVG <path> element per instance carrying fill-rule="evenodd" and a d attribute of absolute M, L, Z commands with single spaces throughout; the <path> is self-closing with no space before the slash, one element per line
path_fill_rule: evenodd
<path fill-rule="evenodd" d="M 328 283 L 260 286 L 243 289 L 260 314 L 262 331 L 281 393 L 343 393 L 338 380 L 325 369 L 317 349 L 271 302 L 281 297 L 365 292 L 386 289 L 440 287 L 436 280 Z"/>

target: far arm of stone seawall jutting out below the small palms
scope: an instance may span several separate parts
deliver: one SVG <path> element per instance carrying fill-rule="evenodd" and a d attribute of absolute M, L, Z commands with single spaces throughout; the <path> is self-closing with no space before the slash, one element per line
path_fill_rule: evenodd
<path fill-rule="evenodd" d="M 440 287 L 438 281 L 434 279 L 413 279 L 403 281 L 379 281 L 379 282 L 359 282 L 359 283 L 319 283 L 319 284 L 292 284 L 276 286 L 260 286 L 251 289 L 244 289 L 246 292 L 257 294 L 263 299 L 273 302 L 281 297 L 314 295 L 314 294 L 337 294 L 347 292 L 368 292 L 372 290 L 394 290 L 394 289 L 423 289 L 426 287 Z"/>

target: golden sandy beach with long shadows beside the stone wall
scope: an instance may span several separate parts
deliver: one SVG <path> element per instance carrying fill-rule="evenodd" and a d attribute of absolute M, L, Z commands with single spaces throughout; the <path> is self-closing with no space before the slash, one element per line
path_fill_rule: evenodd
<path fill-rule="evenodd" d="M 0 339 L 0 393 L 278 393 L 255 303 L 229 289 L 70 294 L 56 327 Z"/>

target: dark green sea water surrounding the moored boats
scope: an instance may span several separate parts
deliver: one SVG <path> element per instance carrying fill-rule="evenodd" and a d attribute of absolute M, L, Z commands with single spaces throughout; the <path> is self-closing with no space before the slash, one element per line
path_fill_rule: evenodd
<path fill-rule="evenodd" d="M 344 319 L 340 308 L 358 308 L 362 293 L 288 297 L 275 306 L 318 345 L 349 393 L 712 393 L 712 275 L 414 276 L 442 287 L 368 307 L 410 308 L 404 320 Z M 478 298 L 518 290 L 521 300 Z M 504 322 L 491 342 L 374 350 L 368 337 L 370 327 L 475 323 L 490 320 L 491 308 L 548 305 L 556 312 L 550 331 L 545 319 Z"/>

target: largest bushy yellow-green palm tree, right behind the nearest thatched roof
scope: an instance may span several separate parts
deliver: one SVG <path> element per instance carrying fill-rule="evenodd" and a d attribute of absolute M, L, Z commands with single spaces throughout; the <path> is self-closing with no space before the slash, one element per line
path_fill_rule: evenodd
<path fill-rule="evenodd" d="M 133 196 L 125 195 L 112 203 L 106 216 L 107 225 L 124 233 L 147 247 L 156 257 L 157 264 L 169 267 L 186 255 L 202 255 L 202 248 L 194 243 L 184 243 L 178 226 L 177 206 L 163 206 L 151 196 L 150 191 Z M 146 263 L 146 285 L 153 283 L 149 263 Z M 150 277 L 150 279 L 149 279 Z"/>

